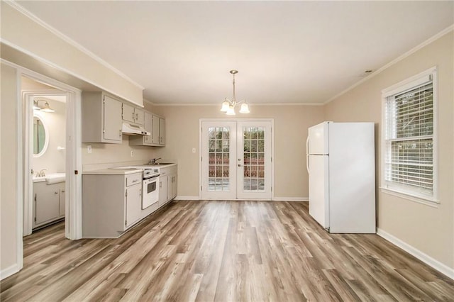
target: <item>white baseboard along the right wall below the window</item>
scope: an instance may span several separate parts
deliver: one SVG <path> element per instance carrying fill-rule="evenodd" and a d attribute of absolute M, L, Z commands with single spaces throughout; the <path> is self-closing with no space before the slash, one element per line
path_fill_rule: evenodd
<path fill-rule="evenodd" d="M 400 240 L 397 237 L 394 237 L 393 235 L 385 232 L 384 230 L 381 230 L 380 228 L 377 228 L 377 235 L 388 240 L 393 245 L 397 245 L 397 247 L 400 247 L 405 252 L 408 252 L 410 255 L 413 255 L 414 257 L 420 259 L 422 262 L 428 264 L 433 269 L 436 269 L 438 272 L 441 272 L 441 274 L 444 274 L 444 275 L 450 277 L 450 279 L 454 280 L 454 269 L 453 268 L 448 267 L 447 265 L 439 262 L 436 259 L 433 259 L 429 255 L 424 254 L 423 252 L 416 249 L 415 247 L 409 245 L 408 243 Z"/>

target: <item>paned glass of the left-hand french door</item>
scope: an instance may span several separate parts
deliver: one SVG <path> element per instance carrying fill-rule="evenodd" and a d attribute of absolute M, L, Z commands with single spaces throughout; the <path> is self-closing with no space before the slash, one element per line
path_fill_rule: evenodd
<path fill-rule="evenodd" d="M 208 191 L 229 191 L 230 130 L 209 127 L 208 136 Z"/>

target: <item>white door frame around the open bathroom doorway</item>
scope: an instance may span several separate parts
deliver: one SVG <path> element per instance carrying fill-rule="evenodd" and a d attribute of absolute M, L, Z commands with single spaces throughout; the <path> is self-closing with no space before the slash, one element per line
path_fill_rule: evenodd
<path fill-rule="evenodd" d="M 77 240 L 82 238 L 82 91 L 74 88 L 70 85 L 59 82 L 50 77 L 46 77 L 38 72 L 33 72 L 30 69 L 21 67 L 11 62 L 2 61 L 5 64 L 10 65 L 17 70 L 17 113 L 18 113 L 18 125 L 17 135 L 18 138 L 22 138 L 18 142 L 18 190 L 21 194 L 18 194 L 18 200 L 16 201 L 18 208 L 18 221 L 17 221 L 17 240 L 21 242 L 21 248 L 18 250 L 18 258 L 23 260 L 23 230 L 24 225 L 24 213 L 23 203 L 26 199 L 25 194 L 29 194 L 31 187 L 26 184 L 33 185 L 33 177 L 31 177 L 30 161 L 28 160 L 29 148 L 26 146 L 28 142 L 28 136 L 26 137 L 26 127 L 23 118 L 26 118 L 29 111 L 33 111 L 30 108 L 26 108 L 26 104 L 23 104 L 22 95 L 22 77 L 32 79 L 33 81 L 52 86 L 59 91 L 67 94 L 66 104 L 66 161 L 65 161 L 65 172 L 66 172 L 66 194 L 65 194 L 65 237 L 70 240 Z M 28 110 L 28 111 L 27 111 Z M 33 114 L 33 112 L 31 113 Z M 29 134 L 29 133 L 28 133 Z M 77 174 L 76 174 L 77 171 Z M 80 173 L 79 173 L 80 172 Z M 25 191 L 27 188 L 28 191 Z M 22 193 L 23 192 L 23 193 Z M 30 208 L 28 209 L 30 212 Z M 30 215 L 30 213 L 27 213 Z M 23 262 L 21 262 L 21 268 Z"/>

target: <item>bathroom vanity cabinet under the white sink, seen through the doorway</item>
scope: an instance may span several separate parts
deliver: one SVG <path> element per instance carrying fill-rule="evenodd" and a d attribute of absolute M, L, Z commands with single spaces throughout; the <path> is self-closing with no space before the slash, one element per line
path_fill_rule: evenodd
<path fill-rule="evenodd" d="M 33 183 L 33 225 L 38 228 L 65 217 L 65 182 Z"/>

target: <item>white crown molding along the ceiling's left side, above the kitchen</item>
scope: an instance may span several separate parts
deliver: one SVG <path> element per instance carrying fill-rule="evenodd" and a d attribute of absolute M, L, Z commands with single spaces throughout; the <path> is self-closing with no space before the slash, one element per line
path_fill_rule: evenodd
<path fill-rule="evenodd" d="M 5 3 L 8 4 L 9 6 L 11 6 L 13 9 L 16 9 L 16 11 L 22 13 L 27 18 L 31 19 L 31 21 L 34 21 L 35 23 L 38 23 L 38 25 L 43 26 L 43 28 L 45 28 L 46 30 L 49 30 L 50 33 L 56 35 L 57 38 L 60 38 L 60 39 L 64 40 L 66 43 L 70 44 L 72 47 L 77 48 L 77 50 L 80 50 L 81 52 L 83 52 L 85 55 L 88 55 L 89 57 L 91 57 L 96 62 L 99 62 L 99 64 L 104 65 L 104 67 L 106 67 L 108 69 L 111 69 L 111 71 L 115 72 L 116 74 L 118 74 L 123 79 L 126 79 L 128 82 L 130 82 L 134 86 L 136 86 L 136 87 L 138 87 L 138 88 L 140 88 L 142 90 L 145 89 L 143 86 L 141 86 L 137 82 L 133 81 L 133 79 L 128 77 L 126 74 L 123 74 L 123 72 L 119 71 L 118 69 L 116 69 L 115 67 L 110 65 L 108 62 L 102 60 L 101 57 L 98 57 L 93 52 L 87 50 L 87 48 L 83 47 L 82 45 L 80 45 L 76 41 L 72 40 L 67 35 L 64 35 L 60 31 L 58 31 L 57 29 L 55 29 L 52 26 L 50 26 L 48 23 L 45 23 L 43 20 L 38 18 L 38 16 L 35 16 L 30 11 L 27 11 L 23 6 L 18 4 L 16 1 L 5 1 Z"/>

